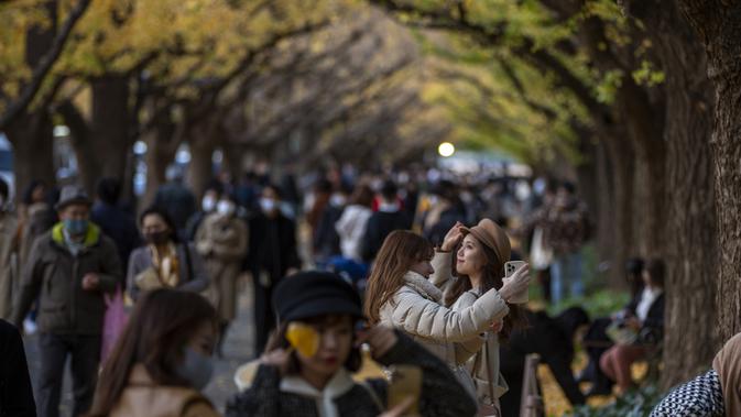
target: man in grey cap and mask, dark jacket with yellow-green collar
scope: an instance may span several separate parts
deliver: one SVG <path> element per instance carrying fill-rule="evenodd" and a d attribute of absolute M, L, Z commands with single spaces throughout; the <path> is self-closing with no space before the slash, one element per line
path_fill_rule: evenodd
<path fill-rule="evenodd" d="M 62 190 L 56 206 L 61 221 L 34 241 L 13 306 L 12 321 L 20 326 L 39 299 L 36 405 L 44 417 L 59 415 L 68 355 L 75 393 L 73 415 L 90 407 L 100 360 L 103 294 L 113 293 L 123 277 L 115 243 L 89 220 L 91 204 L 79 187 Z"/>

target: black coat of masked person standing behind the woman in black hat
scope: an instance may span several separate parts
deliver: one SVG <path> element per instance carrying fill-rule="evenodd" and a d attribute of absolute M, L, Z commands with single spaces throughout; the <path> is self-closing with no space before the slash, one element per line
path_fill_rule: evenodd
<path fill-rule="evenodd" d="M 249 222 L 250 241 L 248 266 L 252 276 L 266 272 L 271 282 L 277 283 L 288 268 L 299 268 L 296 246 L 296 226 L 293 220 L 279 213 L 269 218 L 259 213 Z"/>

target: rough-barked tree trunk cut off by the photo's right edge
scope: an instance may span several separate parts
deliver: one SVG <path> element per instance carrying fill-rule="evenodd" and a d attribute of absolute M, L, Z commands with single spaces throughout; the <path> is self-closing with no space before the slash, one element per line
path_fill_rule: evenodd
<path fill-rule="evenodd" d="M 683 0 L 680 4 L 705 46 L 716 91 L 711 143 L 720 256 L 715 310 L 722 342 L 741 331 L 741 3 Z"/>

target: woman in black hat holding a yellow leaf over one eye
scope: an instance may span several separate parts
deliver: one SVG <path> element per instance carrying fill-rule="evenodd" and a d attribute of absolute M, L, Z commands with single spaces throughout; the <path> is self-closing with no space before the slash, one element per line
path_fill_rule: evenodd
<path fill-rule="evenodd" d="M 360 297 L 338 275 L 304 272 L 286 277 L 275 288 L 273 306 L 279 329 L 257 362 L 252 381 L 240 382 L 238 371 L 238 385 L 246 391 L 228 403 L 227 416 L 383 414 L 389 383 L 383 378 L 357 383 L 351 376 L 360 367 L 361 343 L 368 343 L 373 359 L 384 366 L 422 371 L 418 404 L 412 405 L 421 415 L 476 414 L 476 403 L 439 359 L 397 331 L 363 328 Z"/>

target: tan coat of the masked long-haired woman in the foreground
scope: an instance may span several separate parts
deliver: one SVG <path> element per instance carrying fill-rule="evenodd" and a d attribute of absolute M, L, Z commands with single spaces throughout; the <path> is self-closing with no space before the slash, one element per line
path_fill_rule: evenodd
<path fill-rule="evenodd" d="M 135 364 L 110 417 L 219 417 L 219 414 L 199 392 L 185 386 L 156 385 L 144 365 Z"/>

